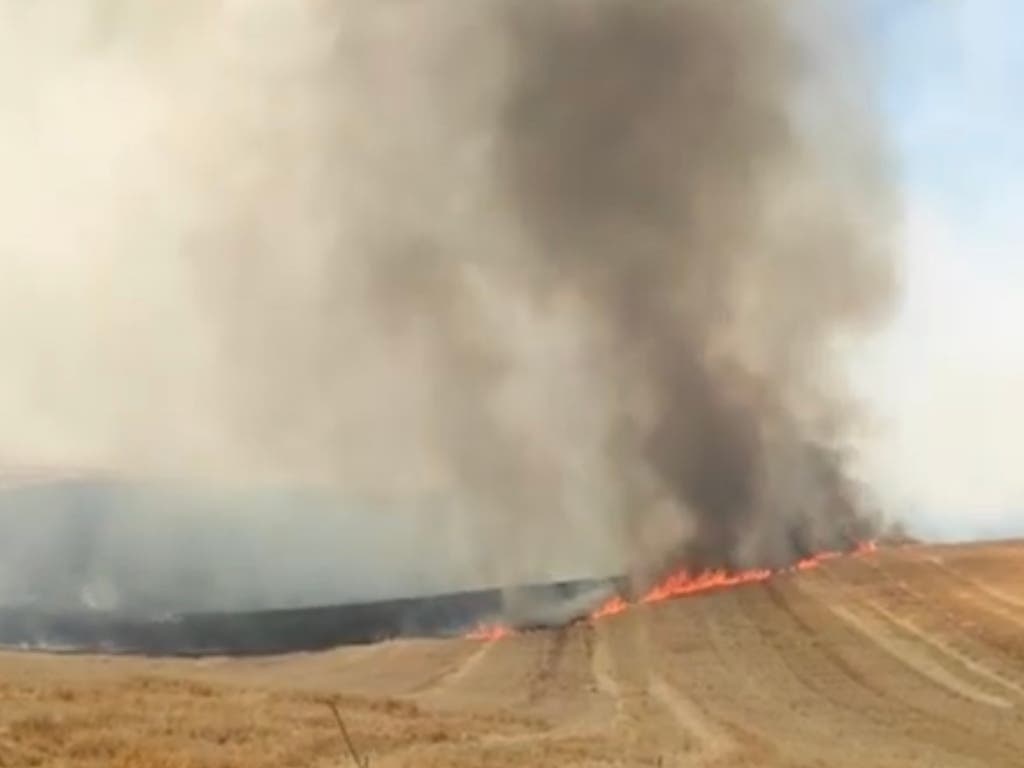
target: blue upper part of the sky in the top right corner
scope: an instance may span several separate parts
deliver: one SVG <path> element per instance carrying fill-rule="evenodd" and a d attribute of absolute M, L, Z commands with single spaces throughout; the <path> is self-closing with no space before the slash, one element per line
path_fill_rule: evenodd
<path fill-rule="evenodd" d="M 1024 4 L 887 5 L 876 29 L 906 182 L 965 224 L 1001 224 L 1024 163 Z"/>

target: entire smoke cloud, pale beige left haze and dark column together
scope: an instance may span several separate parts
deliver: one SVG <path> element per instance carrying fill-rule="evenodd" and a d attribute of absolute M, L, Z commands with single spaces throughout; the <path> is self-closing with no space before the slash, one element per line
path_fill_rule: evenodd
<path fill-rule="evenodd" d="M 894 208 L 817 4 L 0 13 L 0 456 L 434 500 L 380 567 L 490 583 L 874 524 Z"/>

